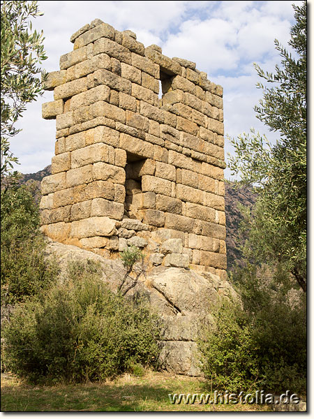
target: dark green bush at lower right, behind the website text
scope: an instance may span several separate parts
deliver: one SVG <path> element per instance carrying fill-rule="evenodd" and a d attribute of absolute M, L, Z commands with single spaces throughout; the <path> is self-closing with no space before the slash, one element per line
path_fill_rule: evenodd
<path fill-rule="evenodd" d="M 265 281 L 254 267 L 238 272 L 236 284 L 241 302 L 214 308 L 216 326 L 200 341 L 211 385 L 229 392 L 305 392 L 304 296 L 292 302 L 288 288 Z"/>

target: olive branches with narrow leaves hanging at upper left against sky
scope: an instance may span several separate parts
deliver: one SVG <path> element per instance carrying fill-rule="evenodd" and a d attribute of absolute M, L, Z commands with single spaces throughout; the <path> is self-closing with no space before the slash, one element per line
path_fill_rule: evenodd
<path fill-rule="evenodd" d="M 1 1 L 1 181 L 10 175 L 17 157 L 10 152 L 10 138 L 19 129 L 27 103 L 43 94 L 45 71 L 38 67 L 47 59 L 43 31 L 32 31 L 30 18 L 43 15 L 37 1 Z"/>

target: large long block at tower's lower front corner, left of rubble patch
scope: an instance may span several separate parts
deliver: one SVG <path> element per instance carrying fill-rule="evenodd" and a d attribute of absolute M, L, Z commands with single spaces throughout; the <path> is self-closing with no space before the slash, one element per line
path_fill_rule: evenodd
<path fill-rule="evenodd" d="M 112 236 L 117 230 L 115 221 L 107 216 L 94 216 L 88 219 L 73 221 L 70 226 L 70 237 Z"/>

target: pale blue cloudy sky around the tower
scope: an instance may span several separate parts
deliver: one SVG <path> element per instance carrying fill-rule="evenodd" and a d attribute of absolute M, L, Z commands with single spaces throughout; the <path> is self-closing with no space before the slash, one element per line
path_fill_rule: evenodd
<path fill-rule="evenodd" d="M 38 1 L 43 16 L 32 20 L 33 28 L 45 36 L 48 59 L 43 68 L 59 70 L 59 58 L 73 50 L 70 36 L 98 18 L 115 29 L 130 29 L 147 47 L 163 48 L 167 57 L 194 61 L 211 82 L 223 86 L 225 159 L 232 153 L 227 135 L 235 138 L 251 127 L 269 140 L 279 138 L 256 117 L 254 106 L 262 98 L 261 81 L 253 66 L 274 72 L 281 57 L 277 38 L 289 50 L 294 24 L 292 3 L 301 1 Z M 17 170 L 42 170 L 54 156 L 55 120 L 41 117 L 41 106 L 53 101 L 47 91 L 29 104 L 17 124 L 22 131 L 11 140 L 11 151 L 19 158 Z M 225 170 L 230 178 L 230 170 Z"/>

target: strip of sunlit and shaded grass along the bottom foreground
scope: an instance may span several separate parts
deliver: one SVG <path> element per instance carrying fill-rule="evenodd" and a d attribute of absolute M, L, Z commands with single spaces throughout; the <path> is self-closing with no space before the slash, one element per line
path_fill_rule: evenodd
<path fill-rule="evenodd" d="M 1 374 L 1 411 L 266 411 L 256 404 L 171 404 L 168 394 L 207 392 L 202 378 L 147 372 L 114 381 L 76 385 L 30 385 Z"/>

